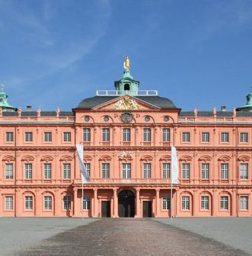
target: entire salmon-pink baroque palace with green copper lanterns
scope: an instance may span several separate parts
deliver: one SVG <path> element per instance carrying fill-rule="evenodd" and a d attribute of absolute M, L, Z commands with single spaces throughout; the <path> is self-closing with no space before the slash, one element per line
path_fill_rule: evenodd
<path fill-rule="evenodd" d="M 252 216 L 252 92 L 231 112 L 183 111 L 124 67 L 114 91 L 68 112 L 11 107 L 2 88 L 0 216 Z"/>

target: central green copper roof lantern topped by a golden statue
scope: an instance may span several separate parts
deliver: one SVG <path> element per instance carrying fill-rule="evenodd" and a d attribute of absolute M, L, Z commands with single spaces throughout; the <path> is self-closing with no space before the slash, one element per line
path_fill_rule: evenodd
<path fill-rule="evenodd" d="M 125 71 L 123 72 L 123 78 L 119 81 L 114 82 L 117 95 L 137 95 L 139 91 L 139 81 L 134 80 L 132 75 L 130 74 L 130 62 L 129 57 L 124 57 L 123 68 Z"/>

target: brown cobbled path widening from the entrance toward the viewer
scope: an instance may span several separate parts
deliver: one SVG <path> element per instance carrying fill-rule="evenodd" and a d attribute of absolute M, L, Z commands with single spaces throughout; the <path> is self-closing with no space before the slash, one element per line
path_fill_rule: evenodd
<path fill-rule="evenodd" d="M 79 226 L 17 256 L 234 256 L 243 251 L 151 219 L 102 219 Z"/>

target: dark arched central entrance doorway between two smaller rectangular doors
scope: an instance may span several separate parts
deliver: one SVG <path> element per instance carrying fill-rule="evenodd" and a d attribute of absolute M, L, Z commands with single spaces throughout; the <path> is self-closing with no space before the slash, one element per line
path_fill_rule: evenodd
<path fill-rule="evenodd" d="M 135 216 L 135 195 L 130 190 L 122 190 L 118 195 L 118 214 L 120 217 Z"/>

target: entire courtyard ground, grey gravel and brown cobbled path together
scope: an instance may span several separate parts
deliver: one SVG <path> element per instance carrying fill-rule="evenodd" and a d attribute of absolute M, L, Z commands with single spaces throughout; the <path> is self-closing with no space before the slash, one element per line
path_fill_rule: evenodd
<path fill-rule="evenodd" d="M 252 255 L 252 218 L 0 219 L 0 255 Z"/>

